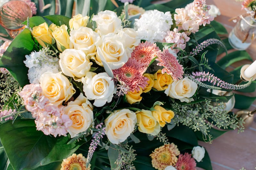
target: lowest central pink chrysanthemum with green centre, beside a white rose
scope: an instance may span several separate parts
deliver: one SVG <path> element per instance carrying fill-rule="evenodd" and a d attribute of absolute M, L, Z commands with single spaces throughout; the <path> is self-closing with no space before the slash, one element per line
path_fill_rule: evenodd
<path fill-rule="evenodd" d="M 129 91 L 140 91 L 140 87 L 144 89 L 148 84 L 148 78 L 143 76 L 141 70 L 137 70 L 135 66 L 124 65 L 123 67 L 113 70 L 114 77 L 118 81 L 124 83 Z"/>

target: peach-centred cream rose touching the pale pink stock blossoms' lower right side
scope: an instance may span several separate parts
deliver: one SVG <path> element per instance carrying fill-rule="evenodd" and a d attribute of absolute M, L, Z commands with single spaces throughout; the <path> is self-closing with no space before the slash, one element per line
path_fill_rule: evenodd
<path fill-rule="evenodd" d="M 93 124 L 92 104 L 82 93 L 76 100 L 68 102 L 63 112 L 72 121 L 72 125 L 68 128 L 71 138 L 78 133 L 85 132 Z"/>

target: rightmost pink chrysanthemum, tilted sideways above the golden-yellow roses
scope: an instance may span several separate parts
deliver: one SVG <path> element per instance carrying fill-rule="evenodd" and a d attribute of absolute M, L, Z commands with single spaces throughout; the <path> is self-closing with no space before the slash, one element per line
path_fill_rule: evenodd
<path fill-rule="evenodd" d="M 183 78 L 182 77 L 184 74 L 183 66 L 180 65 L 176 57 L 171 53 L 169 53 L 167 49 L 159 53 L 156 61 L 160 62 L 160 63 L 157 63 L 157 65 L 164 66 L 164 69 L 162 69 L 162 74 L 166 72 L 167 74 L 172 76 L 173 80 L 178 80 Z"/>

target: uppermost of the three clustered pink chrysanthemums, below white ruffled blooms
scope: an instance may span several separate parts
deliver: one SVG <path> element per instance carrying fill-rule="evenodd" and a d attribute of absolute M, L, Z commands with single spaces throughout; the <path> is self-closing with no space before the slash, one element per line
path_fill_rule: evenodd
<path fill-rule="evenodd" d="M 158 55 L 160 49 L 151 42 L 141 42 L 132 52 L 132 58 L 135 58 L 144 67 L 148 67 L 154 57 Z"/>

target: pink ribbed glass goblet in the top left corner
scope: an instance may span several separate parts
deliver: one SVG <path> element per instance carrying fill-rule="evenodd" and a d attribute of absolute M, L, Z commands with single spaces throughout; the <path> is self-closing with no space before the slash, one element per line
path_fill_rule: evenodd
<path fill-rule="evenodd" d="M 32 17 L 32 9 L 24 1 L 11 0 L 0 7 L 0 25 L 12 38 L 23 31 L 26 26 L 21 23 L 28 17 Z"/>

